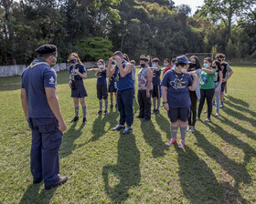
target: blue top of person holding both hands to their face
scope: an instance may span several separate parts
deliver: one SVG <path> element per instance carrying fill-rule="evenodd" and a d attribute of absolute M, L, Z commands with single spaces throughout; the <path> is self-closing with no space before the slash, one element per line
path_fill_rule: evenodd
<path fill-rule="evenodd" d="M 123 68 L 127 65 L 127 62 L 123 60 Z M 115 74 L 118 76 L 117 91 L 128 90 L 134 88 L 132 71 L 126 76 L 122 77 L 119 73 L 118 66 L 115 66 Z"/>

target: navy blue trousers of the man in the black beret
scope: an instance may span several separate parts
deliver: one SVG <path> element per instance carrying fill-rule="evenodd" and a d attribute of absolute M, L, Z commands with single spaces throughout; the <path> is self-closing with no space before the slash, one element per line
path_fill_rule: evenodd
<path fill-rule="evenodd" d="M 59 147 L 62 132 L 55 117 L 28 118 L 32 131 L 30 168 L 34 180 L 44 179 L 45 186 L 59 180 Z"/>

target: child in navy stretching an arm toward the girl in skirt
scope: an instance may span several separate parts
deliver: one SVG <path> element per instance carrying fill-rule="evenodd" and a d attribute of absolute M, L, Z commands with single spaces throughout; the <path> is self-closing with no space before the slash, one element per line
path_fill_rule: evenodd
<path fill-rule="evenodd" d="M 103 59 L 98 60 L 98 68 L 91 68 L 88 71 L 96 71 L 97 76 L 97 97 L 100 102 L 100 110 L 98 115 L 102 113 L 102 98 L 105 101 L 104 115 L 108 114 L 108 88 L 107 88 L 107 70 L 105 68 L 105 62 Z"/>

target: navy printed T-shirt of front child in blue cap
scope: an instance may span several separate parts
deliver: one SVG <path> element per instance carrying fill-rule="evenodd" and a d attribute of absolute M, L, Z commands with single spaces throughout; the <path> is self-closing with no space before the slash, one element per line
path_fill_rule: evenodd
<path fill-rule="evenodd" d="M 167 102 L 169 107 L 190 107 L 191 100 L 188 87 L 193 84 L 188 73 L 178 74 L 175 70 L 165 73 L 161 86 L 167 87 Z"/>

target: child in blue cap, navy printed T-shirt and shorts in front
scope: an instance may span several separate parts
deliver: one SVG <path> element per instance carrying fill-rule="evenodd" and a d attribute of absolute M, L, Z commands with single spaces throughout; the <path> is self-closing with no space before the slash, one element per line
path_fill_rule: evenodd
<path fill-rule="evenodd" d="M 187 56 L 176 57 L 176 70 L 166 72 L 161 83 L 165 110 L 171 120 L 172 139 L 167 146 L 176 144 L 177 128 L 180 128 L 181 139 L 179 148 L 184 148 L 187 131 L 187 117 L 190 114 L 191 100 L 189 90 L 195 91 L 197 87 L 197 74 L 187 73 L 189 61 Z M 193 81 L 191 76 L 193 76 Z"/>

